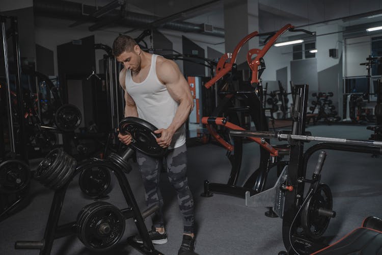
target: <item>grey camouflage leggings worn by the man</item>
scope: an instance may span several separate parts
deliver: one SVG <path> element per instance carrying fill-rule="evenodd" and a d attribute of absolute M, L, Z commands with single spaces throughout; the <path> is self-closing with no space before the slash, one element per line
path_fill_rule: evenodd
<path fill-rule="evenodd" d="M 152 217 L 153 226 L 165 227 L 163 198 L 159 190 L 159 175 L 163 160 L 167 162 L 169 181 L 178 194 L 179 209 L 183 215 L 183 231 L 187 234 L 194 233 L 194 200 L 187 183 L 187 148 L 185 144 L 168 150 L 163 159 L 149 157 L 137 150 L 137 161 L 146 191 L 147 206 L 159 204 L 159 210 Z"/>

